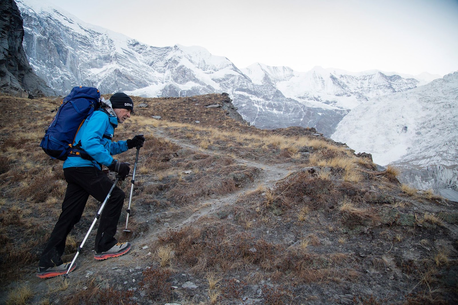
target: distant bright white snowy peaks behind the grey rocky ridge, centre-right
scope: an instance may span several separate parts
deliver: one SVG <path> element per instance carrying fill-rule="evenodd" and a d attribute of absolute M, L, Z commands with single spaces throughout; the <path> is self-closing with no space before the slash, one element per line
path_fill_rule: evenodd
<path fill-rule="evenodd" d="M 320 66 L 308 72 L 297 72 L 288 67 L 260 63 L 241 71 L 256 84 L 278 88 L 287 98 L 327 109 L 353 109 L 369 98 L 409 90 L 440 77 L 428 73 L 402 77 L 379 70 L 352 73 Z"/>

